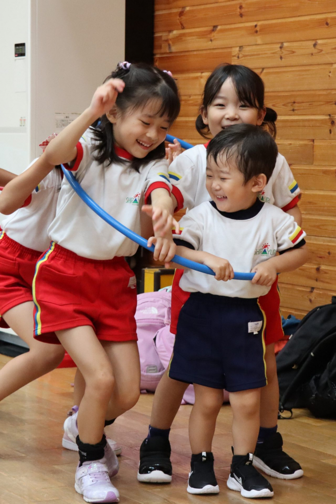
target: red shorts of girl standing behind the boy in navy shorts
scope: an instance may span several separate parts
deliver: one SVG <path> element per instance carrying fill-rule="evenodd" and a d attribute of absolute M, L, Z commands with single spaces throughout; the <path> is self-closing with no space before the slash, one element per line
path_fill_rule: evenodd
<path fill-rule="evenodd" d="M 180 309 L 188 299 L 190 293 L 181 289 L 179 283 L 183 275 L 183 270 L 175 270 L 173 279 L 173 288 L 171 292 L 171 323 L 170 332 L 176 334 L 176 327 Z M 278 288 L 278 279 L 272 285 L 270 291 L 265 296 L 260 296 L 259 305 L 266 316 L 265 327 L 265 345 L 271 345 L 283 339 L 284 331 L 282 328 L 280 313 L 280 293 Z"/>

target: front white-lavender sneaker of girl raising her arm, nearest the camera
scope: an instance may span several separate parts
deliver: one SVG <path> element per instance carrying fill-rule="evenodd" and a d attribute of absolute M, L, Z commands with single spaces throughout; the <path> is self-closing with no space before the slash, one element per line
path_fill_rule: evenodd
<path fill-rule="evenodd" d="M 119 502 L 119 492 L 110 482 L 105 458 L 78 465 L 75 490 L 86 502 Z"/>

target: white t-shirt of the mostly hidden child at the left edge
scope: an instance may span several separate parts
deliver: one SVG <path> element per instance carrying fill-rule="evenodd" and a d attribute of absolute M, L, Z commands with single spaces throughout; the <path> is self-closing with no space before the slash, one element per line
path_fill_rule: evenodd
<path fill-rule="evenodd" d="M 60 168 L 54 168 L 32 192 L 29 205 L 19 208 L 2 221 L 2 229 L 12 240 L 41 252 L 49 247 L 47 229 L 56 215 L 62 174 Z"/>

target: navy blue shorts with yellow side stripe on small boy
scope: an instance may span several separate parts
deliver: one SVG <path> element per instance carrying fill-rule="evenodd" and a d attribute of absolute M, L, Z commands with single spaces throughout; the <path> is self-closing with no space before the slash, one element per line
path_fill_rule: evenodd
<path fill-rule="evenodd" d="M 264 325 L 256 298 L 192 292 L 178 318 L 169 377 L 228 392 L 264 387 Z"/>

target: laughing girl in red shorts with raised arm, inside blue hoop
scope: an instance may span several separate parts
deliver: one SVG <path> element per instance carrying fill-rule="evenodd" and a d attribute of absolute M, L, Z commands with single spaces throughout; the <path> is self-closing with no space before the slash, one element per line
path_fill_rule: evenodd
<path fill-rule="evenodd" d="M 119 64 L 90 106 L 46 147 L 41 158 L 50 168 L 29 168 L 7 185 L 9 197 L 19 203 L 51 166 L 64 164 L 93 200 L 133 231 L 140 232 L 141 207 L 150 203 L 154 257 L 169 262 L 175 221 L 164 140 L 179 107 L 167 72 Z M 34 337 L 61 343 L 84 376 L 76 491 L 87 502 L 117 502 L 110 477 L 118 464 L 103 430 L 139 398 L 136 278 L 125 261 L 138 245 L 94 214 L 65 177 L 48 234 L 50 247 L 33 280 Z"/>

